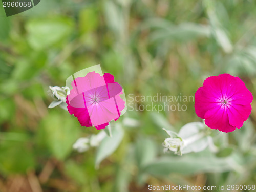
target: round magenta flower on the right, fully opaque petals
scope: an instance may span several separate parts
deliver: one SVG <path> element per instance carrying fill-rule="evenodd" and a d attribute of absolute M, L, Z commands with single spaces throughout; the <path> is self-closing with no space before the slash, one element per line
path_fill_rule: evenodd
<path fill-rule="evenodd" d="M 252 94 L 239 77 L 221 74 L 205 79 L 195 94 L 195 110 L 211 129 L 232 132 L 251 113 Z"/>

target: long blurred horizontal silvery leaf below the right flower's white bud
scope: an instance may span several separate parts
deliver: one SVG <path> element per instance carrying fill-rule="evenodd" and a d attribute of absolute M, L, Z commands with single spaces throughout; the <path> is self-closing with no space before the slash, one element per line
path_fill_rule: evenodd
<path fill-rule="evenodd" d="M 194 175 L 202 172 L 223 173 L 236 170 L 229 158 L 218 158 L 205 150 L 198 154 L 187 154 L 183 157 L 159 157 L 147 164 L 144 172 L 153 176 L 164 177 L 170 174 Z"/>

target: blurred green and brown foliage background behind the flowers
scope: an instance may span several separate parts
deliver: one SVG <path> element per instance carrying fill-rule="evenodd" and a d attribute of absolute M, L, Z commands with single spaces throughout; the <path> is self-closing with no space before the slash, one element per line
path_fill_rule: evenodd
<path fill-rule="evenodd" d="M 162 128 L 178 132 L 201 121 L 194 102 L 180 103 L 186 111 L 128 109 L 118 120 L 120 145 L 95 169 L 97 148 L 78 153 L 72 144 L 98 131 L 59 107 L 48 109 L 47 93 L 100 63 L 126 99 L 194 95 L 205 78 L 221 73 L 239 76 L 255 95 L 255 1 L 42 0 L 18 15 L 6 17 L 2 6 L 0 13 L 1 192 L 143 192 L 165 184 L 220 191 L 256 183 L 254 101 L 240 130 L 214 131 L 218 153 L 181 157 L 163 153 Z M 125 118 L 140 124 L 130 127 Z"/>

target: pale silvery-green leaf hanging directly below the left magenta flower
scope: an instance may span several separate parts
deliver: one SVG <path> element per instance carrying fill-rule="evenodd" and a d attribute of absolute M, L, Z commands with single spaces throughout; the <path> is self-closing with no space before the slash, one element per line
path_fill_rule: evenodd
<path fill-rule="evenodd" d="M 96 152 L 95 167 L 98 168 L 100 162 L 111 155 L 122 141 L 124 131 L 120 124 L 115 123 L 112 127 L 112 137 L 105 137 L 100 143 Z"/>

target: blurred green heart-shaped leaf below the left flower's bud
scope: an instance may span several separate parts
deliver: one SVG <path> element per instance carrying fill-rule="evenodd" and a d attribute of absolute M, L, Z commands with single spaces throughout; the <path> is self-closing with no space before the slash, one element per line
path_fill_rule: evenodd
<path fill-rule="evenodd" d="M 72 116 L 66 115 L 66 118 L 61 118 L 61 114 L 52 111 L 41 124 L 44 132 L 41 135 L 45 143 L 52 154 L 60 160 L 69 155 L 79 133 L 79 127 L 75 125 Z"/>

